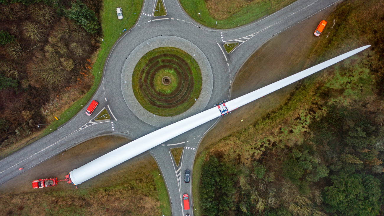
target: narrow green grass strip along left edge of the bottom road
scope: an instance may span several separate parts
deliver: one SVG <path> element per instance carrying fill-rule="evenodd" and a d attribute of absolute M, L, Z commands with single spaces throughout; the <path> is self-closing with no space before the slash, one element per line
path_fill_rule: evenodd
<path fill-rule="evenodd" d="M 159 169 L 156 169 L 156 171 L 152 172 L 153 179 L 156 184 L 156 189 L 157 189 L 157 195 L 159 196 L 159 201 L 161 203 L 161 208 L 164 209 L 162 210 L 162 215 L 164 216 L 170 216 L 170 204 L 169 204 L 169 199 L 168 199 L 168 192 L 166 185 L 164 184 L 164 180 L 160 175 Z"/>

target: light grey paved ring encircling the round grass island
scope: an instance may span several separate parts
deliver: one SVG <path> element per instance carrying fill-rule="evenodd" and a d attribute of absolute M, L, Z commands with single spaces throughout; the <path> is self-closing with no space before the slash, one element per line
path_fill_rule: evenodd
<path fill-rule="evenodd" d="M 195 55 L 194 60 L 197 61 L 201 71 L 202 88 L 199 98 L 197 98 L 197 101 L 189 108 L 189 110 L 176 116 L 158 116 L 144 109 L 139 101 L 136 100 L 131 85 L 133 70 L 135 69 L 137 62 L 144 54 L 151 52 L 151 48 L 156 49 L 159 47 L 175 47 L 183 50 L 190 56 Z M 203 111 L 209 102 L 213 86 L 212 69 L 204 53 L 193 43 L 184 38 L 175 36 L 159 36 L 142 42 L 131 52 L 131 54 L 129 54 L 121 73 L 121 91 L 127 106 L 137 118 L 149 125 L 157 127 L 167 126 Z"/>

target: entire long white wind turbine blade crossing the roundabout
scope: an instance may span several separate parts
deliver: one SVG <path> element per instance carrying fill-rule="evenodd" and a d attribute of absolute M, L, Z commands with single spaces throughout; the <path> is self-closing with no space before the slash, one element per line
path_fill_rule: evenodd
<path fill-rule="evenodd" d="M 288 76 L 287 78 L 284 78 L 280 81 L 277 81 L 275 83 L 272 83 L 270 85 L 267 85 L 263 88 L 260 88 L 256 91 L 252 91 L 251 93 L 248 93 L 246 95 L 240 96 L 238 98 L 235 98 L 231 101 L 228 101 L 225 103 L 229 111 L 235 110 L 236 108 L 243 106 L 247 103 L 250 103 L 254 100 L 257 100 L 258 98 L 261 98 L 262 96 L 268 95 L 269 93 L 272 93 L 273 91 L 276 91 L 280 88 L 283 88 L 284 86 L 290 85 L 291 83 L 294 83 L 295 81 L 301 80 L 302 78 L 305 78 L 306 76 L 309 76 L 313 73 L 316 73 L 319 70 L 322 70 L 328 66 L 331 66 L 335 63 L 338 63 L 341 60 L 344 60 L 348 58 L 349 56 L 352 56 L 358 52 L 361 52 L 362 50 L 365 50 L 366 48 L 370 47 L 371 45 L 367 45 L 364 47 L 357 48 L 355 50 L 352 50 L 348 53 L 344 53 L 343 55 L 339 55 L 335 58 L 332 58 L 328 61 L 324 61 L 323 63 L 320 63 L 318 65 L 315 65 L 311 68 L 308 68 L 306 70 L 303 70 L 299 73 L 296 73 L 292 76 Z M 108 106 L 109 108 L 109 106 Z M 112 113 L 112 112 L 111 112 Z M 130 143 L 127 143 L 124 146 L 121 146 L 120 148 L 117 148 L 87 164 L 84 166 L 81 166 L 77 169 L 73 169 L 70 173 L 70 178 L 72 180 L 73 184 L 81 184 L 84 181 L 93 178 L 94 176 L 103 173 L 104 171 L 107 171 L 108 169 L 113 168 L 114 166 L 117 166 L 118 164 L 123 163 L 126 160 L 129 160 L 133 158 L 136 155 L 139 155 L 143 153 L 144 151 L 150 150 L 151 148 L 160 145 L 161 143 L 164 143 L 165 141 L 168 141 L 176 136 L 179 136 L 182 133 L 185 133 L 186 131 L 189 131 L 199 125 L 202 125 L 206 123 L 207 121 L 210 121 L 214 118 L 217 118 L 221 116 L 220 110 L 215 106 L 214 108 L 211 108 L 209 110 L 205 110 L 201 113 L 198 113 L 194 116 L 190 116 L 188 118 L 185 118 L 181 121 L 178 121 L 176 123 L 173 123 L 171 125 L 168 125 L 164 128 L 161 128 L 157 131 L 154 131 L 152 133 L 149 133 L 145 136 L 142 136 L 138 138 L 137 140 L 134 140 Z"/>

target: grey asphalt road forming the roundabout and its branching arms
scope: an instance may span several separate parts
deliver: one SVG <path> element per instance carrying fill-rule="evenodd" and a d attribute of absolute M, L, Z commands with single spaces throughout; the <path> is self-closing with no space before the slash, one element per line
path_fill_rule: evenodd
<path fill-rule="evenodd" d="M 212 95 L 208 105 L 204 108 L 207 110 L 215 103 L 229 99 L 229 87 L 232 78 L 242 63 L 260 45 L 273 35 L 339 2 L 339 0 L 298 0 L 263 19 L 229 30 L 215 30 L 200 25 L 184 13 L 177 0 L 163 0 L 167 15 L 153 17 L 155 2 L 156 0 L 145 0 L 136 25 L 131 31 L 124 33 L 111 50 L 104 64 L 103 80 L 91 99 L 99 101 L 93 115 L 85 115 L 85 108 L 89 105 L 89 101 L 83 110 L 57 131 L 1 160 L 0 184 L 95 136 L 121 135 L 135 140 L 157 130 L 158 127 L 141 121 L 129 110 L 122 96 L 120 85 L 122 67 L 126 63 L 129 64 L 126 62 L 127 57 L 134 48 L 150 38 L 161 35 L 181 37 L 194 43 L 202 50 L 208 58 L 214 79 Z M 230 41 L 236 41 L 240 44 L 228 55 L 225 53 L 223 44 Z M 111 121 L 93 122 L 93 118 L 103 108 L 113 114 Z M 150 150 L 166 183 L 173 215 L 190 214 L 193 216 L 193 207 L 190 210 L 184 210 L 182 204 L 182 194 L 187 193 L 190 206 L 194 206 L 191 193 L 192 183 L 184 183 L 184 171 L 185 169 L 193 169 L 195 153 L 200 141 L 218 120 L 219 118 L 211 120 Z M 220 127 L 220 125 L 217 126 Z M 182 160 L 177 167 L 171 159 L 169 149 L 180 146 L 184 147 L 184 151 Z M 21 167 L 24 169 L 19 171 Z M 70 171 L 68 170 L 68 173 Z"/>

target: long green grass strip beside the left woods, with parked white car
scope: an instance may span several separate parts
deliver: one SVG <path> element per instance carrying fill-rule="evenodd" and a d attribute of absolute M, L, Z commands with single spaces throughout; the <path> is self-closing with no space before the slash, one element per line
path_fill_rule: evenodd
<path fill-rule="evenodd" d="M 11 148 L 3 151 L 1 157 L 12 154 L 13 152 L 29 145 L 30 143 L 46 136 L 56 128 L 66 121 L 70 120 L 76 113 L 78 113 L 92 98 L 93 94 L 97 90 L 99 83 L 103 75 L 104 62 L 108 56 L 109 51 L 111 50 L 113 44 L 121 36 L 121 31 L 126 28 L 131 28 L 134 23 L 136 23 L 137 18 L 140 15 L 142 0 L 117 0 L 117 1 L 104 1 L 103 10 L 101 13 L 101 27 L 104 34 L 104 42 L 101 42 L 100 49 L 96 55 L 96 60 L 93 63 L 92 75 L 94 76 L 94 83 L 91 89 L 79 100 L 74 102 L 74 104 L 64 111 L 60 116 L 58 121 L 53 121 L 51 125 L 48 125 L 45 130 L 38 133 L 29 141 L 24 141 L 25 145 L 13 145 Z M 124 18 L 119 20 L 116 15 L 116 7 L 121 7 Z M 136 13 L 136 14 L 134 14 Z M 23 141 L 21 141 L 22 143 Z"/>

